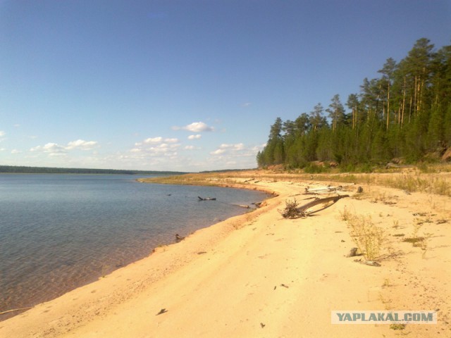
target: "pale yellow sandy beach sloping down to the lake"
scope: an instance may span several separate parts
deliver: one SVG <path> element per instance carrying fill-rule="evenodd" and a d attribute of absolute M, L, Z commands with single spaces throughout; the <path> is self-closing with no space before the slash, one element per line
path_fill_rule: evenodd
<path fill-rule="evenodd" d="M 348 186 L 349 198 L 290 220 L 285 201 L 325 182 L 258 175 L 227 184 L 278 194 L 266 206 L 4 320 L 0 337 L 451 337 L 450 198 Z M 381 267 L 345 257 L 355 246 L 345 208 L 385 230 Z M 421 222 L 426 251 L 402 242 Z M 437 310 L 438 324 L 330 323 L 333 310 L 387 309 Z"/>

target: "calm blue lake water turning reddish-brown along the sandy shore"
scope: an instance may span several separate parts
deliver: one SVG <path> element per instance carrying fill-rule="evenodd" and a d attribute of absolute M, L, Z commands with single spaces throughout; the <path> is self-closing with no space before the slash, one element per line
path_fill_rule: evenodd
<path fill-rule="evenodd" d="M 175 233 L 185 236 L 245 213 L 236 205 L 266 198 L 245 189 L 143 184 L 136 178 L 0 175 L 0 312 L 93 282 L 173 243 Z"/>

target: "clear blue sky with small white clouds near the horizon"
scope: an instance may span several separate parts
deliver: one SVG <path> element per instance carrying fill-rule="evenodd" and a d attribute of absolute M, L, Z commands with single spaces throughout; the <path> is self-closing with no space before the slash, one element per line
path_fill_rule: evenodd
<path fill-rule="evenodd" d="M 254 168 L 421 37 L 451 43 L 450 0 L 0 0 L 0 164 Z"/>

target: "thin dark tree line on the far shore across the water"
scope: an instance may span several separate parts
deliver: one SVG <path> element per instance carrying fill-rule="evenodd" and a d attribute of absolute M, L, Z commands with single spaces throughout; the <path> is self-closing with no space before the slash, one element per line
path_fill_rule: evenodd
<path fill-rule="evenodd" d="M 122 174 L 122 175 L 182 175 L 178 171 L 115 170 L 83 168 L 49 168 L 0 165 L 0 173 L 35 173 L 35 174 Z"/>

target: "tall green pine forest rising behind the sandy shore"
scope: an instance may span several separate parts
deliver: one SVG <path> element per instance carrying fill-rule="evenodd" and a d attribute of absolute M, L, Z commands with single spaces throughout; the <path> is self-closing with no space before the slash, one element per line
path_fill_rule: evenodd
<path fill-rule="evenodd" d="M 295 120 L 277 118 L 257 154 L 259 167 L 309 168 L 322 161 L 354 170 L 440 158 L 451 147 L 451 46 L 436 50 L 419 39 L 378 73 L 345 104 L 335 95 L 327 108 L 319 103 Z"/>

